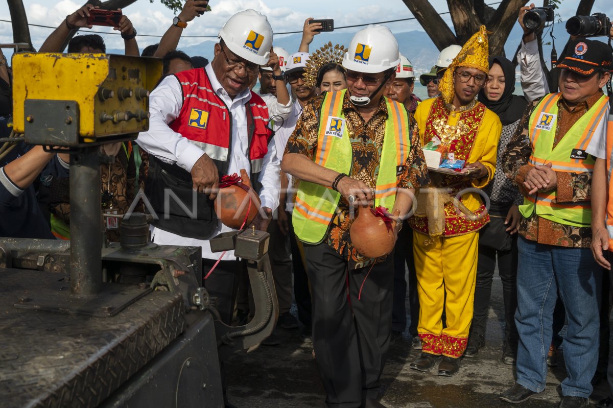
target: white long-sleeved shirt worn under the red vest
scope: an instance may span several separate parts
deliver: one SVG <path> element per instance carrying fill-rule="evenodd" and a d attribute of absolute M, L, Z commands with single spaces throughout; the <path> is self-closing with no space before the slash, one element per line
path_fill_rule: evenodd
<path fill-rule="evenodd" d="M 232 154 L 227 173 L 229 175 L 233 173 L 240 174 L 241 168 L 250 173 L 251 162 L 247 152 L 248 136 L 245 104 L 251 99 L 251 91 L 246 89 L 232 99 L 217 80 L 211 64 L 208 64 L 205 70 L 211 81 L 211 88 L 226 103 L 228 110 L 232 114 Z M 177 77 L 169 75 L 164 78 L 158 85 L 158 88 L 154 89 L 151 93 L 149 104 L 151 113 L 149 131 L 139 134 L 137 143 L 145 151 L 158 157 L 161 161 L 169 164 L 176 163 L 181 168 L 191 172 L 194 164 L 204 153 L 198 146 L 193 145 L 187 138 L 174 132 L 168 126 L 169 123 L 177 118 L 181 112 L 181 107 L 183 107 L 183 92 Z M 271 141 L 268 143 L 268 152 L 262 162 L 262 172 L 260 173 L 259 181 L 262 183 L 262 190 L 260 192 L 262 207 L 268 207 L 273 211 L 279 205 L 280 165 L 281 161 L 276 153 L 275 142 Z M 161 216 L 161 214 L 158 214 L 158 216 Z M 230 231 L 233 231 L 233 229 L 221 224 L 220 221 L 209 239 L 221 232 Z M 156 227 L 153 227 L 152 236 L 153 242 L 156 244 L 200 246 L 202 247 L 202 257 L 206 259 L 219 259 L 221 255 L 211 252 L 208 240 L 189 238 Z M 236 259 L 234 251 L 227 251 L 221 259 Z"/>

